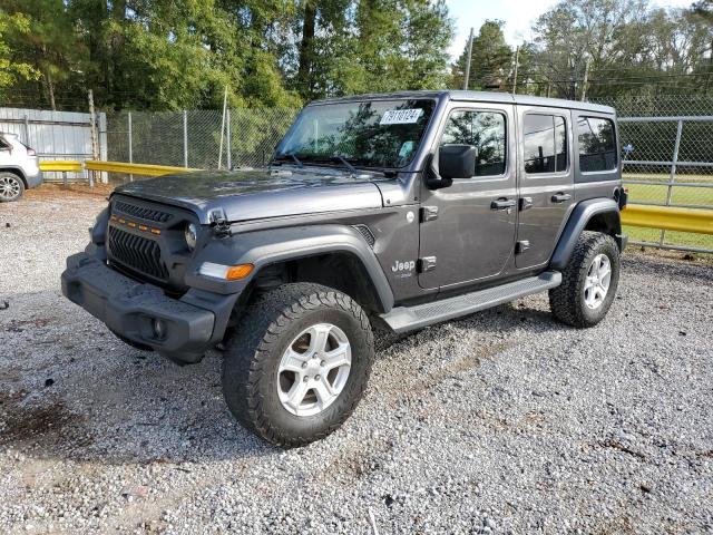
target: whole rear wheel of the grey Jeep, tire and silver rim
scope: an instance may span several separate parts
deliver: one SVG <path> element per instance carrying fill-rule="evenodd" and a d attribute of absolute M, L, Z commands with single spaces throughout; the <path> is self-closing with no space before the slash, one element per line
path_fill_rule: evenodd
<path fill-rule="evenodd" d="M 573 327 L 594 327 L 612 307 L 619 281 L 619 247 L 599 232 L 583 232 L 561 284 L 549 291 L 555 318 Z"/>

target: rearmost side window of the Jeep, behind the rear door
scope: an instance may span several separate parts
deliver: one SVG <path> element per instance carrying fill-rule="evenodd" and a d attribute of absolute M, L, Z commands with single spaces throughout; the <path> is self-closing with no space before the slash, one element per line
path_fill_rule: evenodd
<path fill-rule="evenodd" d="M 598 117 L 579 117 L 579 171 L 583 173 L 616 169 L 614 123 Z"/>

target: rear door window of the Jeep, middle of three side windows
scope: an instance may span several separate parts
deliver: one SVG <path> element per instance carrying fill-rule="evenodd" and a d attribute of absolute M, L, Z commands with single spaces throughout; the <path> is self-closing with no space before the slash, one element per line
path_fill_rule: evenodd
<path fill-rule="evenodd" d="M 527 114 L 522 120 L 525 173 L 567 171 L 567 125 L 556 115 Z"/>

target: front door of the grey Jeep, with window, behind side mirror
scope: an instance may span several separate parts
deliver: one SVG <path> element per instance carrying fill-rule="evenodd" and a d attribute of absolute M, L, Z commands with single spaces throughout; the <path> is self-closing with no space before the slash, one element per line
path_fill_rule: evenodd
<path fill-rule="evenodd" d="M 478 282 L 504 271 L 517 221 L 514 133 L 511 105 L 451 106 L 439 146 L 472 145 L 478 157 L 470 178 L 426 189 L 419 251 L 422 288 Z"/>

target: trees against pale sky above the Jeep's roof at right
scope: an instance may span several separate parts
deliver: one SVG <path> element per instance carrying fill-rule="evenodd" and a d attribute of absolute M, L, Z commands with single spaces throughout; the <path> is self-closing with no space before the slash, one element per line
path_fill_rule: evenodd
<path fill-rule="evenodd" d="M 590 98 L 706 93 L 713 19 L 710 0 L 692 9 L 651 9 L 646 0 L 572 0 L 534 26 L 537 87 L 578 98 L 589 64 Z"/>

